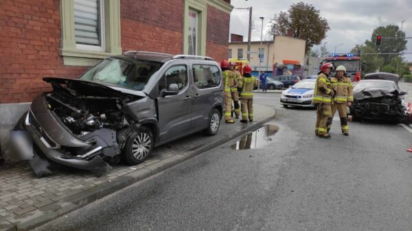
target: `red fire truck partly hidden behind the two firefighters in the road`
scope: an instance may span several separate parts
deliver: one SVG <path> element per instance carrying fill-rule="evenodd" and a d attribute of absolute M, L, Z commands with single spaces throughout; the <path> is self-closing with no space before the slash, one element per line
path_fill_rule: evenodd
<path fill-rule="evenodd" d="M 325 58 L 321 64 L 325 62 L 330 62 L 334 66 L 334 70 L 336 67 L 343 65 L 346 68 L 346 75 L 350 77 L 352 82 L 358 82 L 361 80 L 361 57 L 354 56 L 352 54 L 347 55 L 330 55 Z M 336 71 L 332 70 L 331 75 L 334 76 Z"/>

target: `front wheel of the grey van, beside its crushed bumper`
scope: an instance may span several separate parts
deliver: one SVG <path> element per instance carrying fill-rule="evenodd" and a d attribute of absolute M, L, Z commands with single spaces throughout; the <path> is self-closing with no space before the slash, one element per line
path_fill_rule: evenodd
<path fill-rule="evenodd" d="M 135 128 L 124 146 L 124 160 L 128 165 L 138 165 L 144 162 L 152 152 L 153 145 L 153 134 L 148 127 Z"/>

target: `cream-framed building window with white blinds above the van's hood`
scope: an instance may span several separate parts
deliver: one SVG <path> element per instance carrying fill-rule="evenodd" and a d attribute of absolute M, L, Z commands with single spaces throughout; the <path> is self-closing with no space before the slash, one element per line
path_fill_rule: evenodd
<path fill-rule="evenodd" d="M 93 66 L 122 53 L 120 0 L 60 1 L 65 65 Z"/>

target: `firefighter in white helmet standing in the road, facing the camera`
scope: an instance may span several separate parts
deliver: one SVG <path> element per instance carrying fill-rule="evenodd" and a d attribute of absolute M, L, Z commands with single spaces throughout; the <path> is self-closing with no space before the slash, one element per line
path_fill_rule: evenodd
<path fill-rule="evenodd" d="M 332 118 L 336 110 L 339 112 L 341 118 L 342 134 L 349 136 L 349 125 L 347 125 L 347 106 L 352 105 L 354 101 L 354 95 L 352 92 L 352 81 L 350 77 L 346 76 L 345 66 L 338 66 L 336 68 L 336 75 L 330 78 L 330 84 L 334 91 L 333 104 L 331 106 L 332 116 L 328 119 L 328 132 L 332 125 Z"/>

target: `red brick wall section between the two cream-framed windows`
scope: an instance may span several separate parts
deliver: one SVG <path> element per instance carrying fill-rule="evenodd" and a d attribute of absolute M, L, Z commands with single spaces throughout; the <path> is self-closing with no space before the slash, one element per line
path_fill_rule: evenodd
<path fill-rule="evenodd" d="M 124 51 L 183 52 L 183 1 L 122 0 L 120 9 Z"/>

